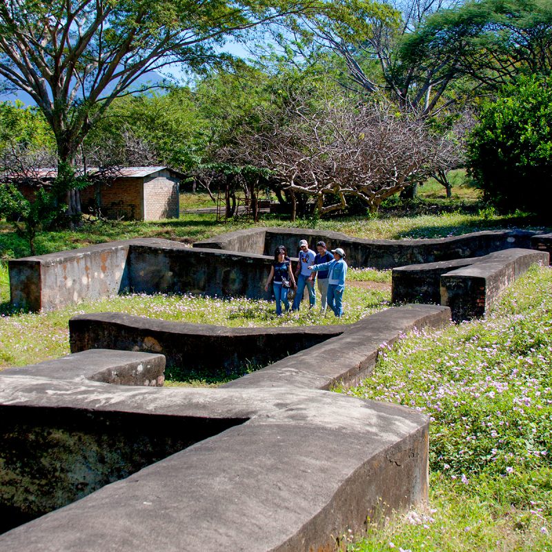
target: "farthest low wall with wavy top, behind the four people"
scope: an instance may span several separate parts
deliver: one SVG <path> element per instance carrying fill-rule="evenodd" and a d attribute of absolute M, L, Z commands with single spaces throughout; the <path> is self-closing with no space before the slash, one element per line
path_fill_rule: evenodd
<path fill-rule="evenodd" d="M 238 233 L 222 234 L 208 242 L 196 242 L 194 247 L 233 248 L 247 251 L 248 232 L 255 233 L 255 253 L 258 253 L 260 236 L 257 229 L 239 230 Z M 487 230 L 461 236 L 437 239 L 361 239 L 339 232 L 324 232 L 304 228 L 264 228 L 264 254 L 272 255 L 274 249 L 284 245 L 290 256 L 297 254 L 299 239 L 306 239 L 315 250 L 316 243 L 326 242 L 329 249 L 342 247 L 347 253 L 350 266 L 395 268 L 405 264 L 429 263 L 480 257 L 506 248 L 530 248 L 530 230 Z M 253 250 L 251 250 L 253 253 Z"/>

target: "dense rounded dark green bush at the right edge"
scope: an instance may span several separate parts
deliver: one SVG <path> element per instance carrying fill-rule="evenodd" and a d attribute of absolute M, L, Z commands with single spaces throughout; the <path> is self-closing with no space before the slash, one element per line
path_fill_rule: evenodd
<path fill-rule="evenodd" d="M 522 78 L 487 103 L 468 143 L 471 175 L 497 208 L 549 215 L 552 79 Z"/>

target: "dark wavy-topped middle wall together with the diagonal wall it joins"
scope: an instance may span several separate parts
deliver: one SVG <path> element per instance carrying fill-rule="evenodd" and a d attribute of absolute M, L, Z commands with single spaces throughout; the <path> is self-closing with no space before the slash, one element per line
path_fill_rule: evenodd
<path fill-rule="evenodd" d="M 73 352 L 96 347 L 152 351 L 166 355 L 168 366 L 202 375 L 251 360 L 274 362 L 226 386 L 329 389 L 367 377 L 382 343 L 393 344 L 413 328 L 437 328 L 450 319 L 449 308 L 432 305 L 388 308 L 346 326 L 299 328 L 224 328 L 98 313 L 73 317 L 69 331 Z"/>

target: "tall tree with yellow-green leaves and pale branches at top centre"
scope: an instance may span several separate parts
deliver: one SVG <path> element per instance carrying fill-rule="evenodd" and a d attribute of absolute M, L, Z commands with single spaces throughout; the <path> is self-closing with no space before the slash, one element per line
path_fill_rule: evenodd
<path fill-rule="evenodd" d="M 292 44 L 302 57 L 335 52 L 344 63 L 339 82 L 347 90 L 362 95 L 385 92 L 400 109 L 426 117 L 451 105 L 444 95 L 451 75 L 443 71 L 443 59 L 437 55 L 405 63 L 400 46 L 426 17 L 455 3 L 334 0 L 297 18 Z M 287 39 L 286 34 L 279 38 L 281 43 Z"/>

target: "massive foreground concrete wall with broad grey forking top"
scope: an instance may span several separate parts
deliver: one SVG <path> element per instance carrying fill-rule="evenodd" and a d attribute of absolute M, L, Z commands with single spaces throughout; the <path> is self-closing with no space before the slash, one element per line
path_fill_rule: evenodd
<path fill-rule="evenodd" d="M 0 408 L 4 420 L 25 422 L 10 434 L 11 451 L 26 450 L 24 435 L 57 432 L 42 456 L 51 471 L 10 471 L 12 485 L 36 491 L 35 502 L 42 475 L 47 491 L 66 477 L 57 490 L 84 489 L 102 466 L 125 477 L 0 535 L 5 552 L 332 550 L 347 529 L 364 531 L 381 504 L 400 509 L 427 497 L 428 419 L 392 404 L 311 389 L 140 388 L 0 373 Z M 200 440 L 175 450 L 190 435 Z M 98 456 L 86 464 L 89 451 Z M 117 458 L 127 452 L 131 472 L 138 459 L 152 463 L 126 477 Z"/>

